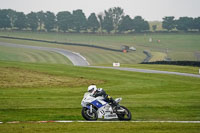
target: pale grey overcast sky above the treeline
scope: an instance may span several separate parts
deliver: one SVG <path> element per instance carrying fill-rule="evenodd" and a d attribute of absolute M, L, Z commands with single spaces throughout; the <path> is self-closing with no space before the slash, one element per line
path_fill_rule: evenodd
<path fill-rule="evenodd" d="M 88 17 L 111 7 L 121 7 L 131 17 L 140 15 L 145 20 L 162 20 L 164 16 L 200 17 L 200 0 L 0 0 L 0 9 L 31 11 L 59 11 L 82 9 Z"/>

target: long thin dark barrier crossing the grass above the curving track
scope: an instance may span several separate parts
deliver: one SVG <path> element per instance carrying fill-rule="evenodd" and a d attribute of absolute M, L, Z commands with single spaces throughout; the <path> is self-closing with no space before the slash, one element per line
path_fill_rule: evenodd
<path fill-rule="evenodd" d="M 45 43 L 56 43 L 56 44 L 71 45 L 71 46 L 83 46 L 83 47 L 98 48 L 98 49 L 103 49 L 103 50 L 108 50 L 108 51 L 114 51 L 114 52 L 122 52 L 122 50 L 120 50 L 120 49 L 112 49 L 112 48 L 107 48 L 107 47 L 102 47 L 102 46 L 96 46 L 96 45 L 90 45 L 90 44 L 57 42 L 57 41 L 47 41 L 47 40 L 39 40 L 39 39 L 31 39 L 31 38 L 8 37 L 8 36 L 0 36 L 0 38 L 26 40 L 26 41 L 35 41 L 35 42 L 45 42 Z"/>

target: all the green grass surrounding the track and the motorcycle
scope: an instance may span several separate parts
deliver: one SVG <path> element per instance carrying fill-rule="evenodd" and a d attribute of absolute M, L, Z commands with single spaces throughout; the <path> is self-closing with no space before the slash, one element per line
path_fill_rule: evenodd
<path fill-rule="evenodd" d="M 136 53 L 116 53 L 94 48 L 63 46 L 20 40 L 10 42 L 44 47 L 58 47 L 81 53 L 93 65 L 135 67 L 186 73 L 198 67 L 168 65 L 133 65 L 142 61 L 145 49 L 165 53 L 174 60 L 196 60 L 199 35 L 77 35 L 55 33 L 0 32 L 0 35 L 89 43 L 119 48 L 134 45 Z M 161 39 L 161 43 L 156 43 Z M 156 44 L 156 45 L 155 45 Z M 23 52 L 21 52 L 23 51 Z M 159 54 L 155 54 L 159 55 Z M 52 59 L 52 60 L 51 60 Z M 122 105 L 132 112 L 133 120 L 200 120 L 200 79 L 193 77 L 126 72 L 111 69 L 74 67 L 61 55 L 28 49 L 0 47 L 0 121 L 83 120 L 81 105 L 91 83 L 102 87 L 112 97 L 122 97 Z M 101 130 L 100 128 L 101 127 Z M 199 124 L 188 123 L 20 123 L 0 124 L 0 132 L 137 132 L 198 133 Z"/>

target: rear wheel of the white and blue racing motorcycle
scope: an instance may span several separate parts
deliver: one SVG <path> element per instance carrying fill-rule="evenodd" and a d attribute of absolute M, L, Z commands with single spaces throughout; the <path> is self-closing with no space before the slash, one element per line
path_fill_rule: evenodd
<path fill-rule="evenodd" d="M 131 120 L 131 112 L 124 106 L 120 106 L 120 109 L 123 109 L 124 112 L 117 112 L 118 119 L 121 121 L 130 121 Z"/>

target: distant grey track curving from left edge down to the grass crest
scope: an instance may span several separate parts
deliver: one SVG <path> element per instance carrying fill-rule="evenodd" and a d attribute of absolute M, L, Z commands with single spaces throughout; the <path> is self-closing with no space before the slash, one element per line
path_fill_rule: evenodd
<path fill-rule="evenodd" d="M 80 55 L 79 53 L 65 50 L 65 49 L 30 46 L 30 45 L 22 45 L 22 44 L 12 44 L 12 43 L 2 43 L 2 42 L 0 42 L 0 45 L 8 46 L 8 47 L 29 48 L 29 49 L 56 52 L 56 53 L 62 54 L 63 56 L 67 57 L 75 66 L 88 66 L 89 65 L 87 60 L 82 55 Z"/>

